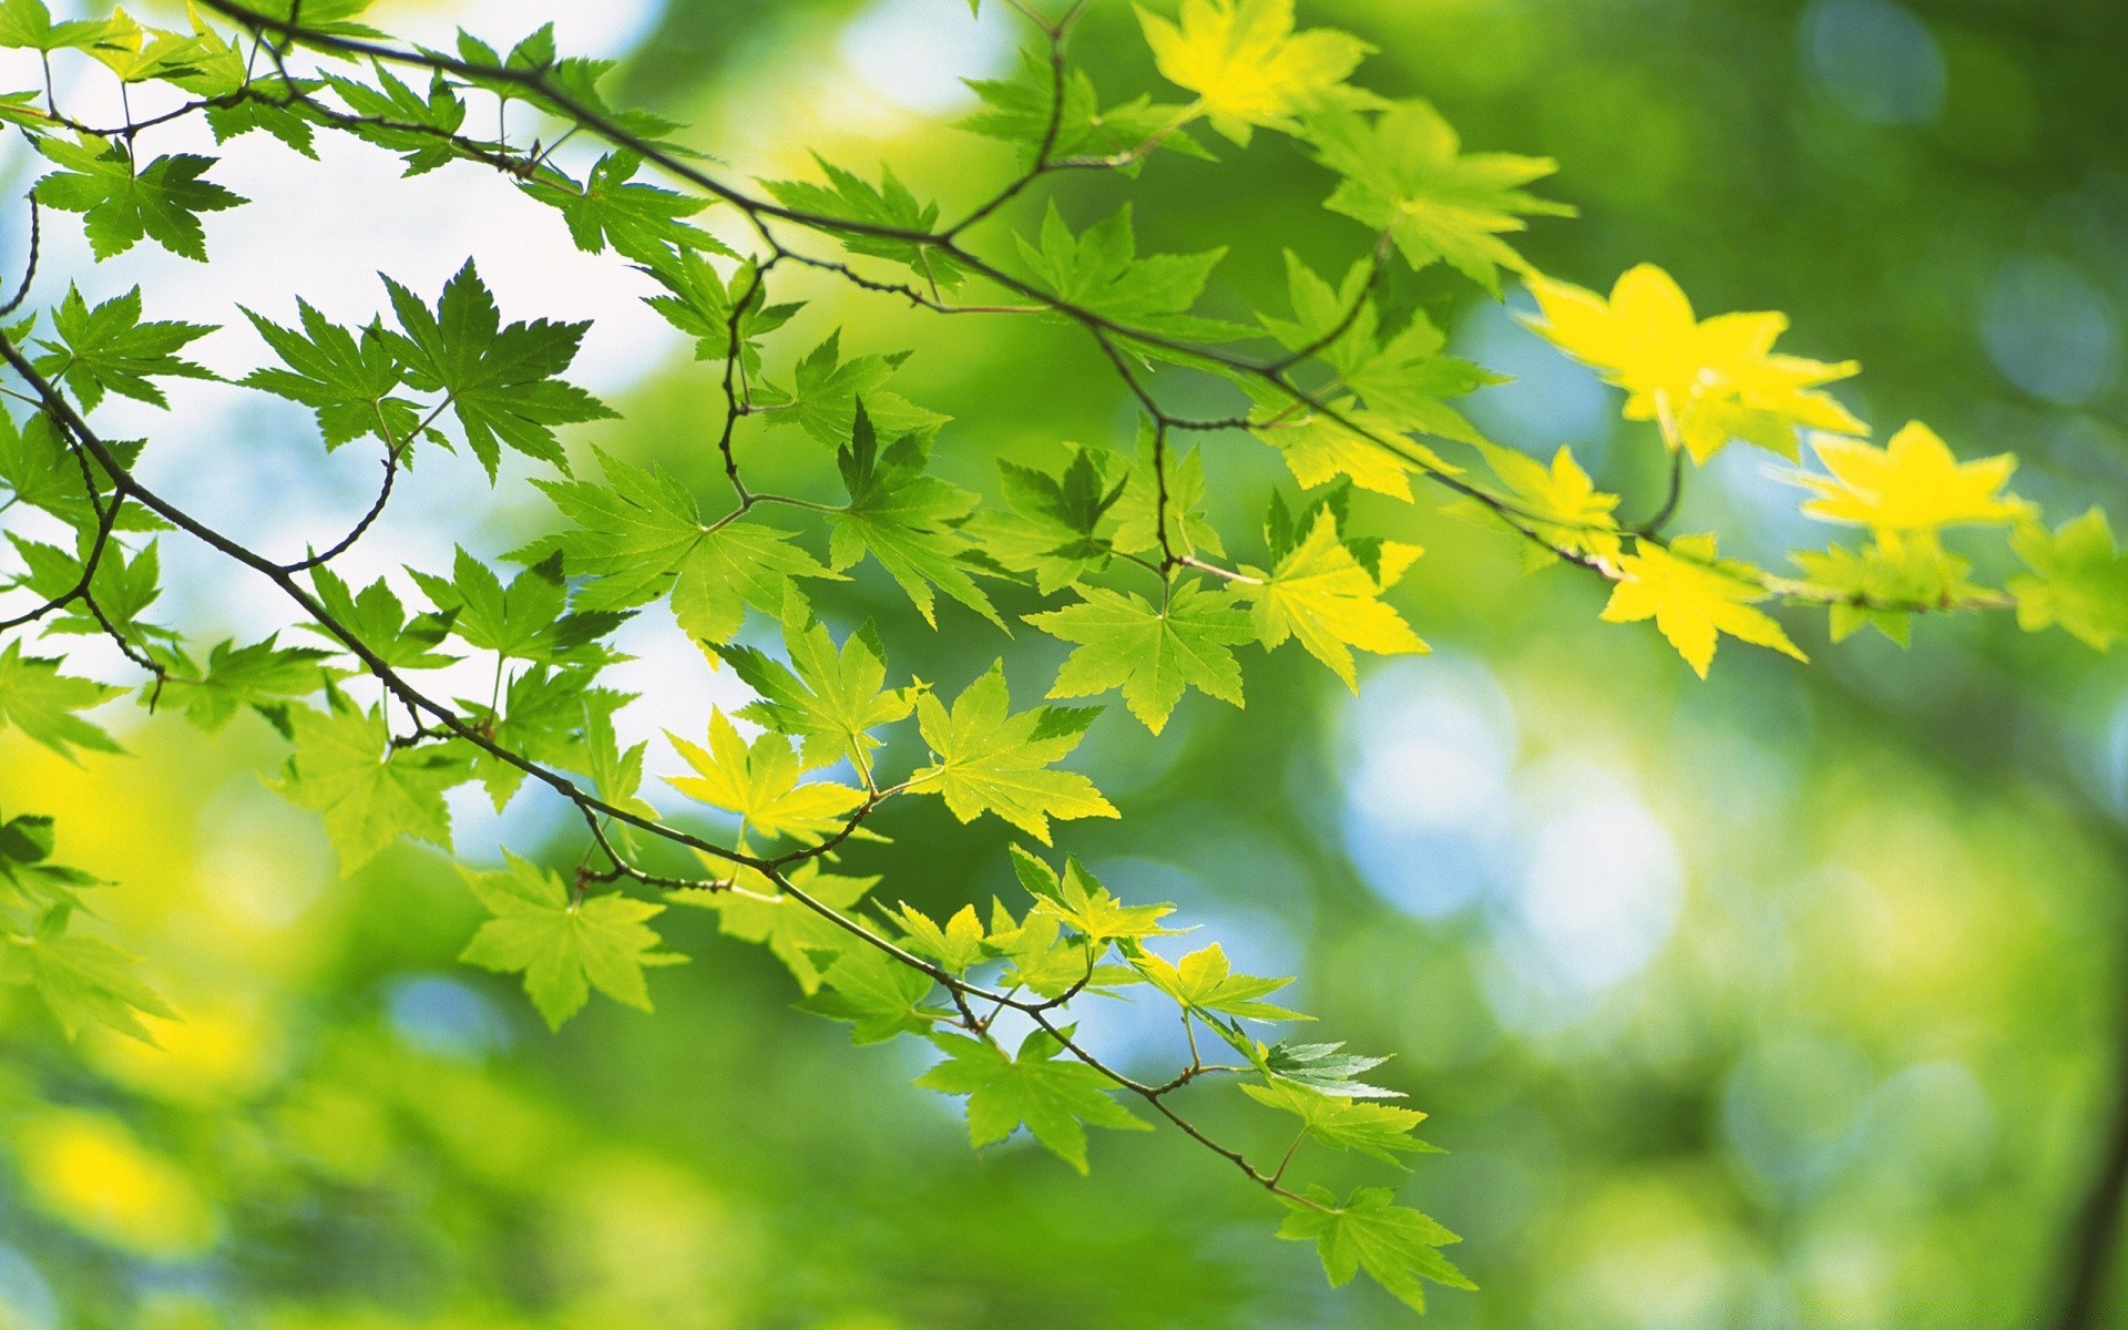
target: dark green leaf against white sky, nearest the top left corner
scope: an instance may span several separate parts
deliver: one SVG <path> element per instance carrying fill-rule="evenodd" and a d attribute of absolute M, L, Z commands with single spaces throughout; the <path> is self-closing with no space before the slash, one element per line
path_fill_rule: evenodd
<path fill-rule="evenodd" d="M 249 202 L 202 181 L 215 160 L 196 153 L 155 157 L 134 170 L 134 160 L 121 145 L 89 136 L 79 143 L 38 138 L 36 151 L 60 166 L 36 181 L 36 202 L 81 213 L 98 260 L 126 253 L 147 236 L 170 253 L 204 264 L 206 230 L 198 215 Z"/>

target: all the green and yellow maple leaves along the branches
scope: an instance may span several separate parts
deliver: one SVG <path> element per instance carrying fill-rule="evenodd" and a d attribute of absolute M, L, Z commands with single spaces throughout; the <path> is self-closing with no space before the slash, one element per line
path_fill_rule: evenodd
<path fill-rule="evenodd" d="M 358 326 L 302 300 L 294 317 L 243 309 L 272 358 L 245 375 L 185 360 L 211 328 L 149 319 L 138 287 L 102 302 L 70 289 L 0 326 L 9 394 L 28 409 L 0 411 L 0 513 L 19 562 L 0 589 L 26 604 L 0 619 L 0 728 L 66 758 L 117 751 L 85 713 L 126 689 L 26 649 L 32 632 L 100 636 L 151 709 L 209 732 L 264 717 L 289 749 L 281 787 L 321 815 L 343 872 L 402 836 L 449 849 L 445 796 L 460 785 L 477 783 L 498 809 L 530 789 L 566 800 L 585 832 L 570 870 L 511 858 L 466 872 L 492 917 L 464 960 L 521 975 L 551 1026 L 592 990 L 649 1009 L 645 970 L 683 960 L 653 919 L 668 904 L 709 909 L 724 932 L 766 945 L 807 1004 L 847 1021 L 858 1043 L 930 1041 L 945 1060 L 921 1083 L 966 1096 L 972 1145 L 1026 1128 L 1083 1170 L 1085 1126 L 1143 1128 L 1151 1113 L 1287 1207 L 1279 1234 L 1313 1241 L 1332 1283 L 1366 1270 L 1419 1307 L 1422 1279 L 1464 1283 L 1439 1253 L 1447 1230 L 1387 1187 L 1343 1200 L 1290 1187 L 1294 1151 L 1260 1168 L 1177 1107 L 1234 1081 L 1298 1119 L 1296 1149 L 1315 1141 L 1394 1164 L 1424 1149 L 1411 1136 L 1419 1113 L 1360 1079 L 1377 1060 L 1260 1038 L 1260 1026 L 1302 1019 L 1268 1000 L 1283 979 L 1236 975 L 1219 945 L 1158 951 L 1168 907 L 1126 904 L 1070 858 L 1058 868 L 1015 849 L 1028 900 L 992 900 L 987 915 L 972 902 L 945 921 L 887 907 L 877 879 L 845 870 L 870 836 L 866 819 L 887 800 L 936 796 L 964 824 L 998 817 L 1049 845 L 1058 824 L 1119 815 L 1060 766 L 1098 706 L 1051 702 L 1119 694 L 1158 736 L 1192 689 L 1241 706 L 1251 643 L 1298 641 L 1351 687 L 1356 651 L 1424 651 L 1390 600 L 1419 549 L 1360 532 L 1362 492 L 1411 504 L 1413 481 L 1507 530 L 1528 566 L 1568 562 L 1611 583 L 1602 617 L 1653 619 L 1700 675 L 1724 632 L 1802 655 L 1758 609 L 1773 596 L 1828 604 L 1834 636 L 1873 624 L 1905 641 L 1915 613 L 2007 606 L 2026 628 L 2060 624 L 2096 647 L 2128 632 L 2128 560 L 2102 513 L 2049 532 L 2002 492 L 2009 458 L 1960 464 L 1917 423 L 1881 449 L 1866 443 L 1866 426 L 1826 392 L 1853 366 L 1775 353 L 1779 315 L 1700 321 L 1647 266 L 1609 300 L 1541 277 L 1509 236 L 1528 217 L 1566 213 L 1528 192 L 1551 162 L 1466 153 L 1430 104 L 1351 85 L 1368 49 L 1296 32 L 1287 0 L 1183 0 L 1173 21 L 1145 13 L 1160 74 L 1192 100 L 1109 106 L 1068 60 L 1083 4 L 1055 17 L 1017 6 L 1036 45 L 1017 77 L 975 85 L 983 109 L 966 121 L 1007 143 L 1017 170 L 953 223 L 892 170 L 875 183 L 821 162 L 821 181 L 758 192 L 713 174 L 672 143 L 677 126 L 611 109 L 604 64 L 562 57 L 551 30 L 509 53 L 472 36 L 443 53 L 394 45 L 358 21 L 364 9 L 200 0 L 189 32 L 164 32 L 121 13 L 60 23 L 40 0 L 0 0 L 0 47 L 96 62 L 138 115 L 98 130 L 62 113 L 51 85 L 0 96 L 0 119 L 51 166 L 32 206 L 79 213 L 98 260 L 153 240 L 204 262 L 202 217 L 245 200 L 206 179 L 213 157 L 143 149 L 192 115 L 217 143 L 260 130 L 315 155 L 319 134 L 347 134 L 396 153 L 409 174 L 500 170 L 515 196 L 560 213 L 579 249 L 626 260 L 645 304 L 719 377 L 713 423 L 730 492 L 704 506 L 655 462 L 572 453 L 564 430 L 611 415 L 566 379 L 585 326 L 504 321 L 472 260 L 434 300 L 385 279 L 389 311 Z M 147 111 L 153 98 L 168 109 Z M 494 138 L 468 130 L 489 123 L 468 115 L 481 98 L 498 104 Z M 515 134 L 513 106 L 532 119 Z M 1290 257 L 1290 309 L 1230 321 L 1198 311 L 1224 251 L 1141 255 L 1128 204 L 1075 228 L 1049 202 L 1009 245 L 968 238 L 1011 230 L 1060 172 L 1134 174 L 1158 151 L 1213 157 L 1198 128 L 1234 147 L 1258 130 L 1294 136 L 1326 172 L 1326 206 L 1373 245 L 1336 283 Z M 541 147 L 564 138 L 602 147 L 581 166 Z M 743 223 L 745 245 L 692 221 L 711 206 Z M 1679 483 L 1688 458 L 1702 464 L 1732 438 L 1796 462 L 1807 440 L 1822 470 L 1796 475 L 1813 494 L 1805 513 L 1864 528 L 1868 545 L 1798 555 L 1802 577 L 1783 579 L 1722 560 L 1711 534 L 1624 528 L 1619 496 L 1598 492 L 1568 451 L 1547 466 L 1456 411 L 1498 377 L 1449 355 L 1424 313 L 1381 298 L 1392 266 L 1494 298 L 1502 272 L 1519 277 L 1536 296 L 1532 326 L 1626 392 L 1626 417 L 1651 421 L 1677 453 Z M 907 353 L 851 349 L 832 328 L 789 355 L 764 353 L 804 326 L 800 304 L 770 300 L 792 268 L 924 309 L 1064 321 L 1109 358 L 1141 428 L 1132 440 L 1060 440 L 1047 466 L 1000 460 L 996 496 L 949 483 L 932 458 L 951 421 L 894 387 Z M 106 440 L 89 417 L 113 398 L 168 406 L 160 381 L 172 379 L 306 406 L 323 449 L 377 451 L 375 502 L 332 543 L 275 562 L 164 500 L 134 472 L 145 445 Z M 1228 394 L 1234 413 L 1177 413 L 1164 404 L 1177 379 L 1198 400 Z M 1200 443 L 1185 447 L 1183 434 Z M 1251 530 L 1221 532 L 1202 511 L 1215 449 L 1249 438 L 1283 455 L 1298 494 L 1275 496 Z M 553 530 L 506 555 L 506 570 L 460 549 L 449 568 L 343 579 L 334 560 L 372 528 L 398 475 L 460 445 L 492 479 L 504 449 L 517 453 L 560 517 Z M 1492 481 L 1436 445 L 1464 449 Z M 775 451 L 777 475 L 811 481 L 753 487 L 760 451 Z M 1941 538 L 1954 526 L 2011 530 L 2030 572 L 2000 592 L 1971 583 L 1973 566 Z M 285 632 L 198 643 L 149 621 L 162 538 L 200 541 L 279 589 Z M 955 632 L 983 632 L 977 619 L 1007 630 L 1000 602 L 1043 604 L 1015 613 L 1068 647 L 1045 702 L 1015 711 L 1004 660 L 981 668 L 990 647 L 966 658 L 972 679 L 951 702 L 915 679 L 890 683 L 881 636 L 860 626 L 838 641 L 813 602 L 872 564 L 926 624 L 968 615 Z M 624 745 L 615 721 L 638 698 L 602 681 L 621 660 L 615 630 L 653 606 L 755 694 L 700 738 L 670 736 L 689 768 L 670 783 L 700 817 L 664 817 L 645 796 L 647 743 Z M 749 624 L 772 630 L 749 636 Z M 462 662 L 492 666 L 487 696 L 434 696 L 423 677 Z M 921 758 L 885 770 L 915 749 Z M 9 975 L 34 983 L 68 1030 L 94 1019 L 145 1034 L 138 1015 L 166 1009 L 123 953 L 72 928 L 89 883 L 53 868 L 49 851 L 49 824 L 0 826 Z M 653 870 L 687 851 L 706 875 Z M 1204 1034 L 1232 1058 L 1194 1051 L 1170 1081 L 1136 1081 L 1079 1043 L 1070 1013 L 1087 996 L 1170 1002 L 1192 1049 Z M 1017 1026 L 1017 1043 L 1000 1026 Z"/>

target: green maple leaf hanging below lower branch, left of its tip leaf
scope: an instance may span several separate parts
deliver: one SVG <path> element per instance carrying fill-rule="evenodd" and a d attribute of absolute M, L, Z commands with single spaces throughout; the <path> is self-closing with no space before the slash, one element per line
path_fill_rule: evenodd
<path fill-rule="evenodd" d="M 917 1085 L 968 1096 L 968 1145 L 1004 1141 L 1021 1124 L 1055 1158 L 1085 1173 L 1085 1126 L 1149 1132 L 1151 1124 L 1109 1098 L 1113 1081 L 1083 1062 L 1060 1062 L 1064 1045 L 1034 1030 L 1019 1053 L 962 1034 L 932 1034 L 947 1062 L 917 1077 Z"/>

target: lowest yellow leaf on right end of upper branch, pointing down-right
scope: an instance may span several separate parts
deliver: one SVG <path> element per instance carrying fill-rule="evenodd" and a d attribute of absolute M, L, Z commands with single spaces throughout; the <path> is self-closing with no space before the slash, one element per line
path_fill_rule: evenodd
<path fill-rule="evenodd" d="M 1670 549 L 1636 541 L 1617 564 L 1619 581 L 1602 606 L 1602 621 L 1653 619 L 1700 679 L 1713 664 L 1719 632 L 1809 660 L 1779 624 L 1751 609 L 1753 600 L 1766 598 L 1766 589 L 1749 579 L 1747 566 L 1719 560 L 1713 536 L 1679 536 Z"/>

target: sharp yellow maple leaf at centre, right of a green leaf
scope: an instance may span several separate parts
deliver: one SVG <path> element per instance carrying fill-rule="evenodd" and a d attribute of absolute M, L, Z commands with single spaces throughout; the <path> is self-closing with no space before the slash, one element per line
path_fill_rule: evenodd
<path fill-rule="evenodd" d="M 1234 594 L 1253 600 L 1256 636 L 1264 649 L 1300 638 L 1309 655 L 1330 666 L 1345 687 L 1358 692 L 1351 647 L 1377 655 L 1428 651 L 1381 594 L 1394 587 L 1411 562 L 1424 553 L 1400 541 L 1381 543 L 1379 577 L 1370 575 L 1339 541 L 1336 515 L 1324 511 L 1270 572 L 1249 568 L 1258 583 L 1234 583 Z"/>

